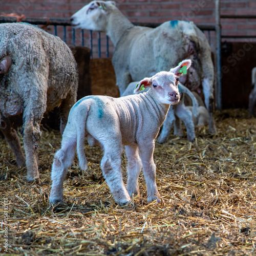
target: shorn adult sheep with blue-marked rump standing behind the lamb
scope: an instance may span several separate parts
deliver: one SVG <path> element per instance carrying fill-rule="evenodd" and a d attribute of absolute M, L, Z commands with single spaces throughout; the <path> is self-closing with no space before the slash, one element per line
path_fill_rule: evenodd
<path fill-rule="evenodd" d="M 193 22 L 172 20 L 153 29 L 134 26 L 113 1 L 92 1 L 71 17 L 74 28 L 105 32 L 114 44 L 112 63 L 120 95 L 128 84 L 152 76 L 181 59 L 193 60 L 181 83 L 190 90 L 202 84 L 209 111 L 209 132 L 216 133 L 214 109 L 214 66 L 204 33 Z"/>

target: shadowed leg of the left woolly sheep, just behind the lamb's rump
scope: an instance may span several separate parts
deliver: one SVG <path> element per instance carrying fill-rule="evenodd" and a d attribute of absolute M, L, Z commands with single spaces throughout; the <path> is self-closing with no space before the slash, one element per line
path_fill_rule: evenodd
<path fill-rule="evenodd" d="M 66 124 L 68 122 L 68 118 L 69 118 L 69 112 L 72 108 L 72 106 L 75 104 L 76 102 L 76 96 L 77 96 L 77 93 L 75 90 L 71 90 L 66 99 L 63 99 L 63 101 L 61 102 L 61 105 L 60 105 L 60 108 L 59 108 L 59 115 L 60 115 L 60 127 L 59 127 L 59 130 L 60 130 L 60 134 L 62 135 L 64 130 L 65 130 L 65 127 L 66 127 Z"/>

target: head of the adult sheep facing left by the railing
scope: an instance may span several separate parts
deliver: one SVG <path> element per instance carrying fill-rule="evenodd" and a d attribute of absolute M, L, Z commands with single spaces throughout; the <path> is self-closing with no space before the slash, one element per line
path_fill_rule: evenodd
<path fill-rule="evenodd" d="M 106 32 L 107 16 L 115 6 L 113 1 L 92 1 L 71 16 L 71 25 L 74 28 Z"/>

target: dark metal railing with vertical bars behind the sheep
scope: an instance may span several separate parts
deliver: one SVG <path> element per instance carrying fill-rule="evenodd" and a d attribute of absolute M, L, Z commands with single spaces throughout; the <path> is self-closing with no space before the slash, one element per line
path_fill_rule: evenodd
<path fill-rule="evenodd" d="M 14 23 L 17 22 L 17 18 L 16 17 L 9 17 L 9 16 L 0 16 L 0 23 Z M 60 31 L 59 31 L 59 27 L 63 27 L 62 31 L 61 31 L 61 39 L 63 41 L 65 41 L 68 45 L 80 45 L 80 46 L 86 46 L 85 44 L 85 39 L 84 37 L 88 38 L 88 40 L 90 41 L 88 45 L 88 47 L 91 49 L 91 57 L 93 57 L 93 52 L 95 49 L 95 44 L 97 44 L 97 48 L 98 48 L 98 57 L 100 58 L 102 55 L 102 38 L 101 38 L 101 33 L 100 32 L 93 32 L 93 31 L 87 31 L 87 30 L 80 30 L 80 34 L 78 35 L 78 32 L 76 29 L 73 29 L 71 27 L 71 23 L 70 23 L 70 19 L 69 18 L 24 18 L 22 20 L 22 22 L 26 22 L 32 25 L 40 25 L 42 26 L 44 29 L 48 29 L 50 26 L 53 26 L 53 30 L 51 31 L 52 34 L 56 35 L 56 36 L 60 36 Z M 161 23 L 134 23 L 134 25 L 138 25 L 138 26 L 146 26 L 146 27 L 151 27 L 151 28 L 156 28 L 159 25 L 161 25 Z M 209 43 L 211 41 L 210 38 L 210 31 L 215 31 L 215 26 L 214 25 L 197 25 L 199 27 L 199 29 L 201 29 L 203 32 L 206 31 L 208 32 L 208 40 Z M 67 35 L 67 28 L 69 28 L 69 30 L 71 29 L 71 36 Z M 50 33 L 51 33 L 50 32 Z M 97 39 L 95 39 L 95 36 L 97 35 Z M 70 38 L 71 37 L 71 38 Z M 79 44 L 76 44 L 77 38 L 79 38 Z M 95 43 L 95 41 L 97 41 L 97 43 Z M 104 44 L 104 48 L 105 50 L 105 56 L 108 58 L 110 57 L 111 53 L 110 53 L 110 42 L 109 42 L 109 37 L 106 35 L 105 38 L 105 44 Z"/>

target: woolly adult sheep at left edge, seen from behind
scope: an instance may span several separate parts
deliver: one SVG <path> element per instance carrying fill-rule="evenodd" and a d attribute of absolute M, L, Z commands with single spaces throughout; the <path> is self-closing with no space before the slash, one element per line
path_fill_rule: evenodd
<path fill-rule="evenodd" d="M 37 148 L 44 113 L 59 106 L 63 132 L 77 87 L 75 58 L 59 37 L 25 23 L 0 25 L 0 128 L 17 164 L 26 161 L 28 181 L 39 177 Z M 26 158 L 8 120 L 20 114 Z"/>

